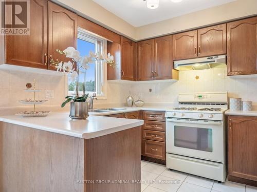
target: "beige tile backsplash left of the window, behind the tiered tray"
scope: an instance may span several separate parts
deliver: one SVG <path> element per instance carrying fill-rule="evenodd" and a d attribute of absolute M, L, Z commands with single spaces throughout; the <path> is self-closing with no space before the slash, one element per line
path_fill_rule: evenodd
<path fill-rule="evenodd" d="M 33 84 L 36 80 L 36 99 L 45 99 L 45 90 L 54 90 L 54 99 L 49 100 L 47 105 L 58 105 L 64 100 L 64 76 L 42 75 L 25 73 L 20 71 L 0 70 L 0 106 L 24 106 L 19 100 L 33 99 L 33 93 L 25 92 L 27 82 Z"/>

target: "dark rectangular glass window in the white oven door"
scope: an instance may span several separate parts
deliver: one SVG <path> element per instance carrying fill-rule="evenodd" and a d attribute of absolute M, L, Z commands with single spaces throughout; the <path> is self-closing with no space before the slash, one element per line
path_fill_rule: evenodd
<path fill-rule="evenodd" d="M 174 126 L 174 145 L 212 152 L 212 130 L 198 127 Z"/>

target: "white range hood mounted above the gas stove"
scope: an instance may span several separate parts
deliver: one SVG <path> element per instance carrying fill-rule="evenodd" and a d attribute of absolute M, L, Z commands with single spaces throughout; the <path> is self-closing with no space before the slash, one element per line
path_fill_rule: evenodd
<path fill-rule="evenodd" d="M 178 71 L 203 70 L 226 67 L 226 55 L 178 60 L 174 62 L 174 68 Z"/>

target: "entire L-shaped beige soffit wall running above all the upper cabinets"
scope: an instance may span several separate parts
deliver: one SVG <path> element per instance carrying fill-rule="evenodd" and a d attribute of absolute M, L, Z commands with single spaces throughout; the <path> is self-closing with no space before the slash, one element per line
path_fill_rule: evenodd
<path fill-rule="evenodd" d="M 91 0 L 53 1 L 77 10 L 81 16 L 134 40 L 161 36 L 257 14 L 256 0 L 237 0 L 228 4 L 135 28 Z"/>

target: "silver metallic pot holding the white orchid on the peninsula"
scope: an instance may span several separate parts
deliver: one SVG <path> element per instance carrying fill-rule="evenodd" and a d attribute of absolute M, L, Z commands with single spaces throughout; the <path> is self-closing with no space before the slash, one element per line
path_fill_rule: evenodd
<path fill-rule="evenodd" d="M 88 115 L 89 102 L 70 102 L 69 117 L 75 120 L 85 120 Z"/>

